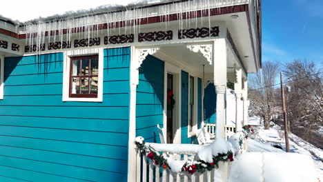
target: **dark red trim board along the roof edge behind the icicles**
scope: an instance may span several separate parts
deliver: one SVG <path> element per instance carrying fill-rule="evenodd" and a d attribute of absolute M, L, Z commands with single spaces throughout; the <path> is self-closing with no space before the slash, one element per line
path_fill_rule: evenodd
<path fill-rule="evenodd" d="M 222 8 L 213 8 L 210 10 L 210 16 L 215 15 L 221 15 L 221 14 L 230 14 L 230 13 L 237 13 L 237 12 L 247 12 L 248 11 L 248 4 L 245 5 L 239 5 L 239 6 L 228 6 L 228 7 L 222 7 Z M 179 20 L 179 17 L 182 16 L 182 19 L 195 19 L 196 17 L 208 17 L 208 10 L 198 10 L 198 11 L 192 11 L 192 12 L 183 12 L 182 15 L 179 14 L 169 14 L 166 16 L 156 16 L 156 17 L 148 17 L 148 18 L 142 18 L 139 22 L 136 23 L 136 25 L 145 25 L 150 23 L 161 23 L 165 21 L 176 21 Z M 195 15 L 196 14 L 196 15 Z M 196 17 L 195 17 L 196 16 Z M 131 24 L 133 24 L 132 22 Z M 117 23 L 102 23 L 97 25 L 98 28 L 93 28 L 90 30 L 105 30 L 108 28 L 121 28 L 126 25 L 125 21 L 119 21 Z M 2 30 L 2 31 L 1 31 Z M 77 32 L 84 32 L 86 30 L 86 27 L 79 27 L 79 28 L 73 28 L 72 33 Z M 67 34 L 68 30 L 63 29 L 63 34 Z M 14 37 L 17 39 L 26 39 L 26 34 L 16 34 L 14 32 L 10 32 L 8 30 L 3 30 L 0 28 L 0 34 L 6 34 L 10 37 Z M 45 36 L 59 34 L 59 30 L 52 30 L 50 32 L 45 32 Z M 37 33 L 32 34 L 32 37 L 36 37 Z"/>

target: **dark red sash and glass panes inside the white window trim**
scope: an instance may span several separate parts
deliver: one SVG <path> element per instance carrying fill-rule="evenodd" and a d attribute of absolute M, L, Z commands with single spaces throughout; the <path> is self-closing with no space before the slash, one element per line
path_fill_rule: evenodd
<path fill-rule="evenodd" d="M 97 98 L 99 56 L 70 58 L 70 97 Z"/>

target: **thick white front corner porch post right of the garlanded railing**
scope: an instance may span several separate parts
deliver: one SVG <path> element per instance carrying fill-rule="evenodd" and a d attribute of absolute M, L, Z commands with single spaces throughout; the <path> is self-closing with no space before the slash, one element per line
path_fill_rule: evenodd
<path fill-rule="evenodd" d="M 213 52 L 213 78 L 215 92 L 217 93 L 215 139 L 226 139 L 226 39 L 215 39 Z M 217 176 L 217 181 L 226 182 L 228 179 L 228 164 L 220 162 L 215 176 Z"/>

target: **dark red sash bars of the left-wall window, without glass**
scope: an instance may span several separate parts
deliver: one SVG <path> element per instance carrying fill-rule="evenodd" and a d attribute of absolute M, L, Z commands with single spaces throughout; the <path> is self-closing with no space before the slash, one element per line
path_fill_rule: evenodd
<path fill-rule="evenodd" d="M 89 59 L 89 63 L 90 63 L 90 59 L 93 59 L 93 58 L 97 58 L 99 60 L 99 55 L 98 54 L 93 54 L 93 55 L 88 55 L 88 56 L 77 56 L 77 57 L 70 57 L 70 87 L 69 87 L 69 97 L 70 98 L 97 98 L 97 94 L 72 94 L 72 78 L 74 77 L 78 77 L 79 79 L 81 78 L 88 78 L 88 90 L 90 91 L 90 78 L 92 77 L 98 77 L 99 78 L 99 61 L 97 62 L 98 63 L 98 74 L 96 75 L 92 75 L 92 74 L 88 74 L 88 75 L 84 75 L 83 77 L 82 76 L 73 76 L 72 75 L 72 69 L 73 69 L 73 64 L 72 62 L 74 60 L 81 60 L 81 59 Z M 82 62 L 82 61 L 80 61 Z M 80 66 L 80 70 L 81 70 L 81 66 Z M 90 64 L 89 64 L 89 73 L 90 73 Z M 80 81 L 80 84 L 81 84 L 81 81 Z M 81 85 L 80 85 L 80 88 L 81 88 Z M 99 90 L 98 90 L 99 91 Z"/>

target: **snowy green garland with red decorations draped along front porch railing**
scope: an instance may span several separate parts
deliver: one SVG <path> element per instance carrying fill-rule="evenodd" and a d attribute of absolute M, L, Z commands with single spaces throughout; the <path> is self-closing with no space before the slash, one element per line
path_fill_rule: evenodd
<path fill-rule="evenodd" d="M 135 144 L 137 145 L 137 152 L 140 152 L 143 156 L 147 156 L 155 165 L 161 165 L 162 168 L 170 168 L 168 165 L 167 159 L 164 158 L 159 152 L 156 152 L 149 145 L 145 145 L 144 138 L 141 136 L 139 140 L 136 139 Z M 138 138 L 137 137 L 137 138 Z M 188 172 L 190 174 L 194 174 L 194 172 L 203 173 L 206 171 L 211 171 L 214 168 L 219 168 L 219 162 L 227 162 L 233 161 L 233 152 L 229 151 L 226 154 L 218 154 L 217 156 L 213 156 L 213 162 L 207 163 L 202 160 L 198 161 L 190 161 L 184 163 L 182 167 L 182 172 Z"/>

